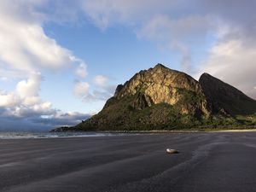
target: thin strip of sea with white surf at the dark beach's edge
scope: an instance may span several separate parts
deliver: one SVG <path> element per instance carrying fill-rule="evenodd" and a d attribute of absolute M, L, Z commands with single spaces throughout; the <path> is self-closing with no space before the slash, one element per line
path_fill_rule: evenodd
<path fill-rule="evenodd" d="M 0 139 L 28 139 L 28 138 L 56 138 L 56 137 L 111 137 L 120 136 L 124 133 L 105 132 L 1 132 Z"/>

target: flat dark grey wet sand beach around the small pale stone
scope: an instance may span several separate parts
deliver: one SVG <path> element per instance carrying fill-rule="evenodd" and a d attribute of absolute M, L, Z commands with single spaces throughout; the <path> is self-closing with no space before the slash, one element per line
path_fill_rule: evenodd
<path fill-rule="evenodd" d="M 0 140 L 0 156 L 1 192 L 256 191 L 256 132 Z"/>

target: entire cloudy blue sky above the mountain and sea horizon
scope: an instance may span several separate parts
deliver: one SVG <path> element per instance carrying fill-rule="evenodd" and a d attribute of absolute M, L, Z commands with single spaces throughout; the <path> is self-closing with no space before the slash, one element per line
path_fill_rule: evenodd
<path fill-rule="evenodd" d="M 162 63 L 256 99 L 256 0 L 1 0 L 0 131 L 48 131 L 99 112 Z"/>

